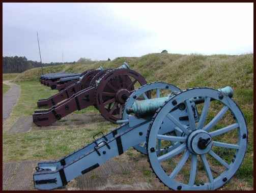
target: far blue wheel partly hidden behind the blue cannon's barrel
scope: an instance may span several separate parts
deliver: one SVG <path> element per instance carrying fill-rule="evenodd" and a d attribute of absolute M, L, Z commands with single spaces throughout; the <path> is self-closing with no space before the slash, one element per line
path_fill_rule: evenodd
<path fill-rule="evenodd" d="M 161 95 L 163 94 L 163 92 L 161 91 L 165 91 L 165 90 L 168 90 L 168 91 L 165 93 L 165 95 Z M 154 97 L 153 97 L 153 94 L 150 94 L 150 97 L 149 97 L 149 92 L 152 93 L 154 91 L 155 91 Z M 130 95 L 129 99 L 126 101 L 122 119 L 123 120 L 128 119 L 129 115 L 126 113 L 125 109 L 130 108 L 138 98 L 143 98 L 143 100 L 146 100 L 148 98 L 152 99 L 152 98 L 166 97 L 167 94 L 170 94 L 172 92 L 181 92 L 181 90 L 172 84 L 168 84 L 164 82 L 153 82 L 140 87 L 139 89 L 135 90 Z M 134 146 L 134 149 L 136 149 L 140 153 L 148 154 L 146 149 L 146 140 L 145 142 Z"/>

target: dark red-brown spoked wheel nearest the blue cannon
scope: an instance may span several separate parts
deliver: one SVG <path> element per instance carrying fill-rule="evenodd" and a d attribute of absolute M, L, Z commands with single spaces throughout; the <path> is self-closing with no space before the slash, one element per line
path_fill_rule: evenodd
<path fill-rule="evenodd" d="M 125 102 L 135 87 L 144 84 L 147 84 L 145 78 L 133 70 L 108 71 L 99 79 L 96 91 L 97 109 L 105 119 L 116 123 L 122 119 Z"/>

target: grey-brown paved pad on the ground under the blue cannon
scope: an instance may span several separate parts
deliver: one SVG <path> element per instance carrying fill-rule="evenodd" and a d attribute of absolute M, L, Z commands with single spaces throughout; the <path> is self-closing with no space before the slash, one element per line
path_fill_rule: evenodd
<path fill-rule="evenodd" d="M 35 190 L 33 173 L 38 161 L 26 160 L 3 164 L 3 190 Z M 133 162 L 108 160 L 104 165 L 81 175 L 68 183 L 65 188 L 56 190 L 151 190 L 157 189 L 141 179 L 126 179 L 133 175 Z M 135 174 L 136 175 L 136 174 Z M 122 181 L 123 179 L 125 181 Z M 126 181 L 130 181 L 126 184 Z"/>

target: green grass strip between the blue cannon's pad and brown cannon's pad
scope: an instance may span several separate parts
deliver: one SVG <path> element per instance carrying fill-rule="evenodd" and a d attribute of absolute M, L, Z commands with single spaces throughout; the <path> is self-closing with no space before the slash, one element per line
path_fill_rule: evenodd
<path fill-rule="evenodd" d="M 103 131 L 101 124 L 96 124 L 94 130 L 84 127 L 79 130 L 4 133 L 3 162 L 60 158 L 92 142 L 93 136 L 99 131 Z"/>

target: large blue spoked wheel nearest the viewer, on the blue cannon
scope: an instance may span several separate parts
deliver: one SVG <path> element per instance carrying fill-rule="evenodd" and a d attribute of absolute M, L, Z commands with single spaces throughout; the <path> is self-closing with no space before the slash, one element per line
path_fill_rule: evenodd
<path fill-rule="evenodd" d="M 189 105 L 189 100 L 194 97 L 204 98 L 198 123 L 194 122 Z M 189 125 L 181 124 L 169 114 L 181 103 L 186 104 Z M 158 135 L 166 116 L 184 132 L 184 136 Z M 148 158 L 153 172 L 170 189 L 213 190 L 223 186 L 239 169 L 246 152 L 247 137 L 244 115 L 232 99 L 218 90 L 192 88 L 171 98 L 154 115 L 147 134 Z M 179 142 L 179 146 L 165 154 L 157 154 L 159 140 L 161 144 Z M 165 167 L 166 162 L 172 167 Z"/>

